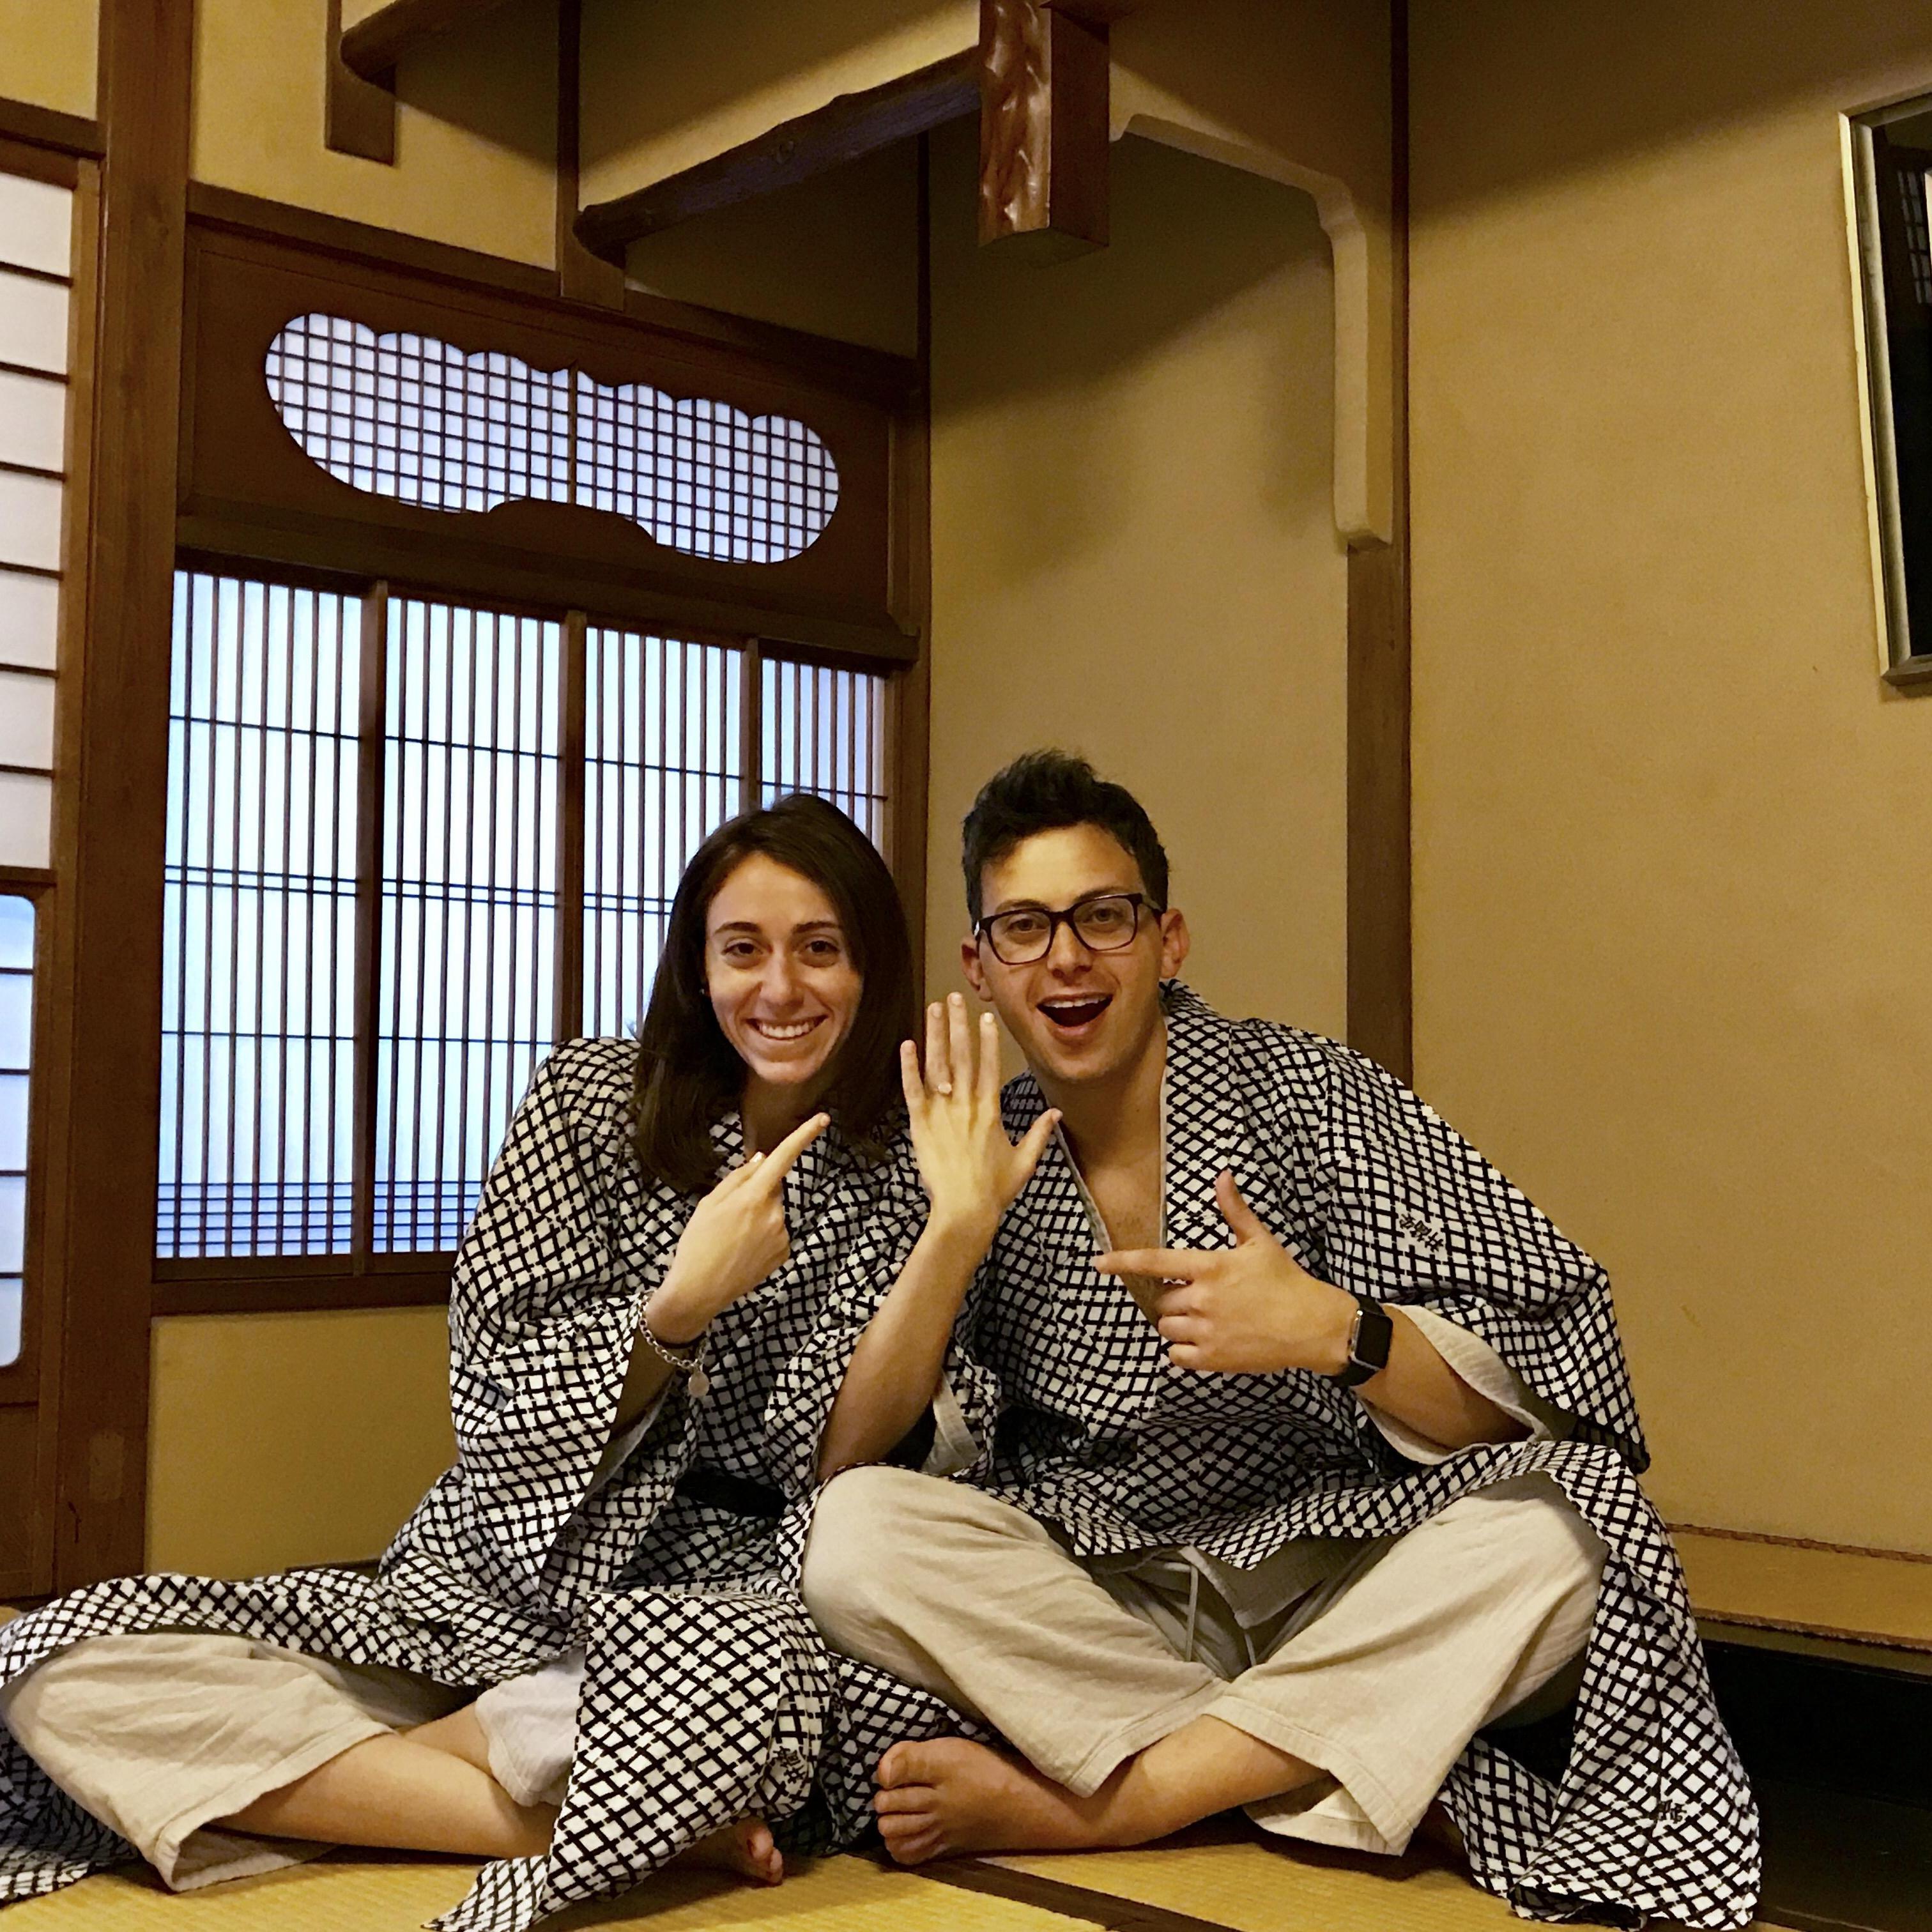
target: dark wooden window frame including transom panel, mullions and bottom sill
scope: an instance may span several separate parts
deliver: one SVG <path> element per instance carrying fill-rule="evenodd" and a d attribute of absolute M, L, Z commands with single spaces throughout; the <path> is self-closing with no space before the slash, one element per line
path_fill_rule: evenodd
<path fill-rule="evenodd" d="M 307 299 L 327 288 L 332 299 Z M 554 286 L 554 284 L 553 284 Z M 373 327 L 448 328 L 466 350 L 500 346 L 539 367 L 574 354 L 599 381 L 651 381 L 815 429 L 840 466 L 840 510 L 804 556 L 734 564 L 682 556 L 614 518 L 562 504 L 483 516 L 352 493 L 296 448 L 267 398 L 259 357 L 292 313 L 325 307 Z M 440 325 L 439 319 L 448 323 Z M 261 342 L 253 338 L 261 336 Z M 238 342 L 243 348 L 238 352 Z M 757 696 L 769 657 L 887 678 L 889 862 L 923 920 L 927 427 L 923 355 L 896 357 L 740 323 L 632 292 L 626 313 L 568 301 L 514 265 L 469 257 L 207 187 L 189 189 L 180 439 L 180 568 L 361 595 L 365 717 L 369 638 L 386 595 L 429 597 L 564 624 L 564 891 L 582 893 L 583 639 L 593 626 L 723 643 L 744 653 L 746 796 L 757 796 Z M 844 524 L 840 526 L 840 518 Z M 379 717 L 379 713 L 377 713 Z M 373 757 L 381 771 L 381 740 Z M 367 815 L 365 815 L 367 817 Z M 375 837 L 363 823 L 363 838 Z M 361 873 L 379 864 L 369 850 Z M 558 904 L 558 1001 L 582 981 L 582 920 Z M 359 910 L 357 987 L 371 997 L 375 920 Z M 582 1010 L 582 1007 L 578 1007 Z M 375 1055 L 361 1037 L 361 1078 Z M 359 1109 L 357 1196 L 373 1163 L 373 1105 Z M 158 1128 L 158 1122 L 156 1122 Z M 211 1256 L 156 1260 L 153 1312 L 255 1314 L 440 1302 L 448 1254 Z"/>

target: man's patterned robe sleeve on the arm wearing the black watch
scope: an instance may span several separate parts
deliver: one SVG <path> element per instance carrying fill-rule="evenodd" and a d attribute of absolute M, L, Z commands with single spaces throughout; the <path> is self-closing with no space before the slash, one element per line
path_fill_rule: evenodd
<path fill-rule="evenodd" d="M 1304 1036 L 1306 1037 L 1306 1036 Z M 1316 1045 L 1314 1090 L 1277 1086 L 1277 1146 L 1321 1198 L 1314 1273 L 1424 1308 L 1486 1343 L 1524 1391 L 1648 1463 L 1609 1277 L 1530 1200 L 1374 1061 Z"/>

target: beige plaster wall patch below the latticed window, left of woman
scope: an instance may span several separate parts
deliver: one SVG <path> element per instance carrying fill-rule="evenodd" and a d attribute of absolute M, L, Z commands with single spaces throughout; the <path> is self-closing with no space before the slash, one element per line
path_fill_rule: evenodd
<path fill-rule="evenodd" d="M 379 1555 L 456 1459 L 440 1308 L 170 1316 L 153 1378 L 151 1569 Z"/>

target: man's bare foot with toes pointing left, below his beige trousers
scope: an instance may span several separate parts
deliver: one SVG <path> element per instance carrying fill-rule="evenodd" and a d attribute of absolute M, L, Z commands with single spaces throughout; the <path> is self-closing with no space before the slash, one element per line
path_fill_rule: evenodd
<path fill-rule="evenodd" d="M 956 1851 L 1076 1851 L 1095 1841 L 1092 1799 L 964 1737 L 895 1745 L 871 1781 L 879 1835 L 900 1864 Z"/>

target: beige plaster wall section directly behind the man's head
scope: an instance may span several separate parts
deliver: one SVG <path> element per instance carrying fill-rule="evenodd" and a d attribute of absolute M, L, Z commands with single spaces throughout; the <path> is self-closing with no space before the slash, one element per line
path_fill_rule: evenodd
<path fill-rule="evenodd" d="M 1148 804 L 1236 1012 L 1343 1028 L 1347 564 L 1331 276 L 1306 195 L 1128 137 L 1113 245 L 974 242 L 933 162 L 929 983 L 958 983 L 958 821 L 1005 759 L 1088 753 Z"/>

